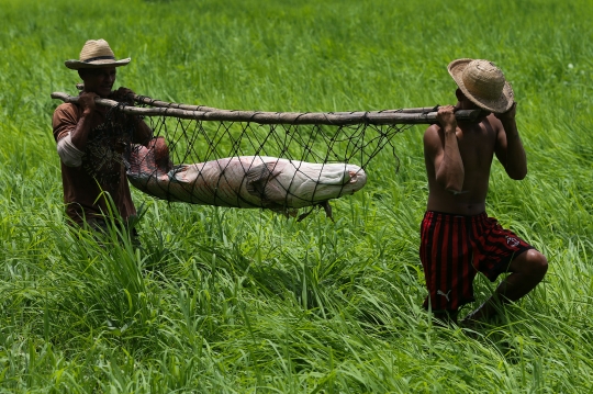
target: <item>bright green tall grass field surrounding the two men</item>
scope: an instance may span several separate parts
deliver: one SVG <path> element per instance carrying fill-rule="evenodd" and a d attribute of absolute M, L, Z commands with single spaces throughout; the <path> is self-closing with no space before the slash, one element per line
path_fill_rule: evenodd
<path fill-rule="evenodd" d="M 592 19 L 585 0 L 0 0 L 1 392 L 593 392 Z M 64 60 L 100 37 L 132 57 L 116 86 L 224 109 L 454 103 L 447 64 L 494 60 L 529 173 L 494 165 L 488 211 L 548 257 L 545 282 L 475 336 L 432 324 L 424 126 L 335 223 L 133 191 L 144 249 L 78 239 L 49 94 L 75 93 Z M 479 278 L 470 306 L 492 289 Z"/>

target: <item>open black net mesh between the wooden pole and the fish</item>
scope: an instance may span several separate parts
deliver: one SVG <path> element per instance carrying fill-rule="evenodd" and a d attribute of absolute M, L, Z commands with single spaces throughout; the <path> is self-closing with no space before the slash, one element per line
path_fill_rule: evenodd
<path fill-rule="evenodd" d="M 177 164 L 271 156 L 318 164 L 349 162 L 363 169 L 385 147 L 398 160 L 392 137 L 411 126 L 257 124 L 165 116 L 145 121 L 155 137 L 165 137 Z"/>

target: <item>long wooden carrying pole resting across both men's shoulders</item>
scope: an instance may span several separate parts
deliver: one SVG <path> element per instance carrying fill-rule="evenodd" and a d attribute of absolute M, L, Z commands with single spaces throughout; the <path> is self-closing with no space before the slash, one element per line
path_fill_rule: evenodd
<path fill-rule="evenodd" d="M 434 111 L 434 108 L 369 112 L 357 111 L 309 113 L 228 111 L 202 105 L 166 103 L 164 101 L 156 101 L 149 98 L 136 98 L 146 100 L 144 102 L 146 104 L 154 105 L 154 108 L 124 105 L 118 101 L 101 98 L 96 98 L 94 102 L 103 106 L 122 105 L 122 111 L 124 113 L 143 116 L 174 116 L 179 119 L 192 119 L 197 121 L 250 122 L 258 124 L 325 124 L 336 126 L 349 124 L 433 124 L 436 123 L 437 114 Z M 63 92 L 52 93 L 52 99 L 59 99 L 68 103 L 78 102 L 78 97 L 72 97 Z M 432 110 L 432 112 L 425 112 L 429 110 Z M 481 112 L 481 110 L 457 111 L 455 115 L 458 121 L 474 121 L 478 119 L 478 116 L 480 116 Z"/>

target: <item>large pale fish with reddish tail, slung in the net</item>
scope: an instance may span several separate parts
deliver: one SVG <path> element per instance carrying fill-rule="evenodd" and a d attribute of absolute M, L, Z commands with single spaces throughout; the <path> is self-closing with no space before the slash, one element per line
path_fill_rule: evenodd
<path fill-rule="evenodd" d="M 153 196 L 192 204 L 264 207 L 293 214 L 353 194 L 367 182 L 365 171 L 348 164 L 311 164 L 267 156 L 238 156 L 174 166 L 165 139 L 135 146 L 127 179 Z"/>

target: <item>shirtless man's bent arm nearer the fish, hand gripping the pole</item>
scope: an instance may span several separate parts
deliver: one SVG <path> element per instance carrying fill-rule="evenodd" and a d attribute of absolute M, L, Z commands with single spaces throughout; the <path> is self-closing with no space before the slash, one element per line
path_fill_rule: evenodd
<path fill-rule="evenodd" d="M 440 127 L 433 125 L 424 134 L 424 149 L 434 165 L 436 181 L 445 190 L 459 194 L 463 188 L 466 171 L 457 144 L 455 108 L 440 106 L 437 121 Z"/>

